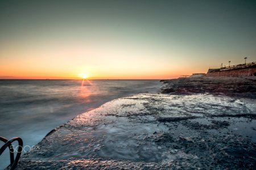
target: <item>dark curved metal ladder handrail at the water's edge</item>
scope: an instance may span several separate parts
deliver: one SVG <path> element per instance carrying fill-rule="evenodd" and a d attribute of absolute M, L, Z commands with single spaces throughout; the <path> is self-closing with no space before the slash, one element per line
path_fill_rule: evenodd
<path fill-rule="evenodd" d="M 11 138 L 9 141 L 6 138 L 0 137 L 0 141 L 5 142 L 5 145 L 3 145 L 0 148 L 0 155 L 2 155 L 3 151 L 5 151 L 5 149 L 7 147 L 9 147 L 9 151 L 10 151 L 10 169 L 13 170 L 15 169 L 16 165 L 18 164 L 20 155 L 22 154 L 22 147 L 23 147 L 23 141 L 21 138 L 19 137 L 15 137 L 15 138 Z M 13 145 L 11 145 L 11 143 L 18 141 L 18 150 L 17 150 L 17 154 L 16 157 L 14 159 L 14 147 Z"/>

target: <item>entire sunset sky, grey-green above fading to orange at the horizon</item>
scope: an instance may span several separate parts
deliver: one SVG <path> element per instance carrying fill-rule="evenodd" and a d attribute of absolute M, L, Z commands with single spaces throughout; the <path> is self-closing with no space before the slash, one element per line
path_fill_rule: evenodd
<path fill-rule="evenodd" d="M 168 79 L 256 61 L 256 1 L 0 1 L 0 79 Z"/>

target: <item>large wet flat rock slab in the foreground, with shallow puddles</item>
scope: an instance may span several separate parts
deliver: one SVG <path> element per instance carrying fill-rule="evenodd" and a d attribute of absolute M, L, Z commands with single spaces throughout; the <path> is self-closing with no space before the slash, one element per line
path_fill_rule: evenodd
<path fill-rule="evenodd" d="M 248 169 L 256 166 L 256 100 L 140 94 L 56 128 L 17 169 Z"/>

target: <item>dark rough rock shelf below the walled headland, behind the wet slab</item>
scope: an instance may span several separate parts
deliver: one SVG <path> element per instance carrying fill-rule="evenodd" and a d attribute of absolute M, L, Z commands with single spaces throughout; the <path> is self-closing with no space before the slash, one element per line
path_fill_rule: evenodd
<path fill-rule="evenodd" d="M 162 80 L 163 94 L 213 94 L 256 99 L 256 77 L 203 77 Z"/>

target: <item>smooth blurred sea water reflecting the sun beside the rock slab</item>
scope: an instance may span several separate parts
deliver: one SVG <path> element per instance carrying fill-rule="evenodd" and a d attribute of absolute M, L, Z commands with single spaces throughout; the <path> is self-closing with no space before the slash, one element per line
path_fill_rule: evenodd
<path fill-rule="evenodd" d="M 0 80 L 0 136 L 36 145 L 78 114 L 119 97 L 156 92 L 161 85 L 159 80 Z M 7 164 L 5 153 L 0 169 Z"/>

